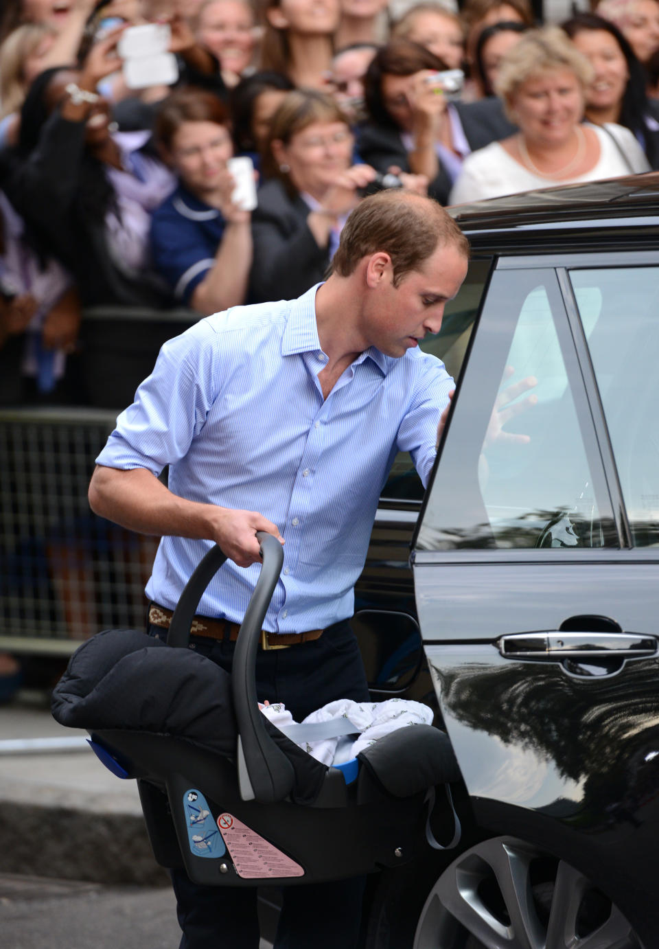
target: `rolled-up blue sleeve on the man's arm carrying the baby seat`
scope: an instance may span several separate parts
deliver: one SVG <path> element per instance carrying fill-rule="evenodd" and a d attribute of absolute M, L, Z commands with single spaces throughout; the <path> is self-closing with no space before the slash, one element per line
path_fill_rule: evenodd
<path fill-rule="evenodd" d="M 96 463 L 145 468 L 157 477 L 186 456 L 216 397 L 216 354 L 217 337 L 207 320 L 164 344 Z"/>

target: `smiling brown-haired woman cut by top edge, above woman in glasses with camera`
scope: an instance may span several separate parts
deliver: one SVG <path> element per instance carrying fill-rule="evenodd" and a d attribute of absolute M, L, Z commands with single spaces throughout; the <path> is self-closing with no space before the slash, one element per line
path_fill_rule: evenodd
<path fill-rule="evenodd" d="M 260 68 L 283 72 L 298 87 L 321 89 L 339 15 L 339 0 L 265 0 Z"/>

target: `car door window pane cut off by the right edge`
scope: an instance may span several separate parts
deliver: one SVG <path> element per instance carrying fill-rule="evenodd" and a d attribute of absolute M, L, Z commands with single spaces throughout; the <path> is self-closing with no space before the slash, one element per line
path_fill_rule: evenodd
<path fill-rule="evenodd" d="M 572 270 L 636 547 L 659 545 L 659 268 Z"/>

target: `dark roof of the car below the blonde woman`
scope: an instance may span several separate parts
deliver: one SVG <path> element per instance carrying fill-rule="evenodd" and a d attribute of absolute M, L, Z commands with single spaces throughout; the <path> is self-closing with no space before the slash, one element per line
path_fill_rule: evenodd
<path fill-rule="evenodd" d="M 447 209 L 472 248 L 548 252 L 659 247 L 659 172 L 559 185 Z"/>

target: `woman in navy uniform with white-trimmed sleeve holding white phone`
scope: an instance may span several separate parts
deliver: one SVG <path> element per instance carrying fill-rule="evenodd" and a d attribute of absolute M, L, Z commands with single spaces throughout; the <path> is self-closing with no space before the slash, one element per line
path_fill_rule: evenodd
<path fill-rule="evenodd" d="M 244 303 L 251 215 L 231 197 L 229 110 L 210 92 L 177 89 L 158 110 L 155 137 L 178 177 L 152 220 L 157 270 L 178 300 L 205 315 Z"/>

